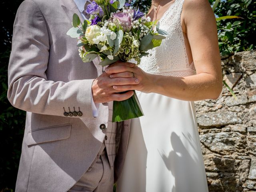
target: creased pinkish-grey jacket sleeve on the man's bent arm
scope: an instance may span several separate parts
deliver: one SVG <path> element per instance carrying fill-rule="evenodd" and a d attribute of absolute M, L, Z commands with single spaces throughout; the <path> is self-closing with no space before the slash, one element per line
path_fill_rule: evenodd
<path fill-rule="evenodd" d="M 12 52 L 8 66 L 10 103 L 28 112 L 64 116 L 66 112 L 82 112 L 93 118 L 91 88 L 93 79 L 69 82 L 47 80 L 50 43 L 48 29 L 40 8 L 33 0 L 20 5 L 14 21 Z M 80 116 L 73 116 L 79 118 Z"/>

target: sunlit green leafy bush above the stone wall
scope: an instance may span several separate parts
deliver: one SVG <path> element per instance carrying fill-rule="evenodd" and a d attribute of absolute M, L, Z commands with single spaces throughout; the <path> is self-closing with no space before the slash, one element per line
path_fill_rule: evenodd
<path fill-rule="evenodd" d="M 238 16 L 240 18 L 218 20 L 219 47 L 222 55 L 248 51 L 256 48 L 256 2 L 254 0 L 220 1 L 215 9 L 218 18 Z"/>

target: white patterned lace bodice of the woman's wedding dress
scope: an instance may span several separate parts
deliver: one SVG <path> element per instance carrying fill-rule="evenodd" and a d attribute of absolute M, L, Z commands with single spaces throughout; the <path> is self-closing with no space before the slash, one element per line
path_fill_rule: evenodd
<path fill-rule="evenodd" d="M 159 20 L 160 29 L 168 32 L 160 46 L 148 50 L 139 67 L 150 74 L 191 76 L 196 74 L 194 63 L 189 64 L 182 33 L 180 15 L 184 0 L 175 0 Z"/>

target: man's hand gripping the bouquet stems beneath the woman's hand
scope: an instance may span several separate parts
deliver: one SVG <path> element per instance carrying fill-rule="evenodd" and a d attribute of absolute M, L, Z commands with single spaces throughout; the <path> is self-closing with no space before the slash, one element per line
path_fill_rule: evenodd
<path fill-rule="evenodd" d="M 129 86 L 136 85 L 139 83 L 138 78 L 134 78 L 132 76 L 131 68 L 135 65 L 127 62 L 116 62 L 111 66 L 115 66 L 114 69 L 109 70 L 106 68 L 105 72 L 102 73 L 94 82 L 92 83 L 92 98 L 95 103 L 105 103 L 109 101 L 122 101 L 130 98 L 133 95 L 133 91 L 128 91 L 126 93 L 118 93 L 120 91 L 115 90 L 113 86 Z M 113 73 L 123 73 L 126 74 L 127 77 L 118 77 L 118 78 L 110 78 L 110 75 Z"/>

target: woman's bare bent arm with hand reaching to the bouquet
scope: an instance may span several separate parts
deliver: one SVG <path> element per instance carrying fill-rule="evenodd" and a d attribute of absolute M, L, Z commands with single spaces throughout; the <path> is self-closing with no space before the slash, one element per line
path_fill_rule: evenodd
<path fill-rule="evenodd" d="M 185 0 L 181 17 L 190 44 L 196 75 L 172 77 L 152 75 L 140 68 L 130 68 L 140 80 L 137 85 L 114 86 L 116 90 L 155 92 L 180 100 L 217 99 L 222 90 L 222 72 L 215 16 L 208 0 Z M 121 66 L 111 66 L 108 73 Z M 113 77 L 128 76 L 127 73 Z"/>

